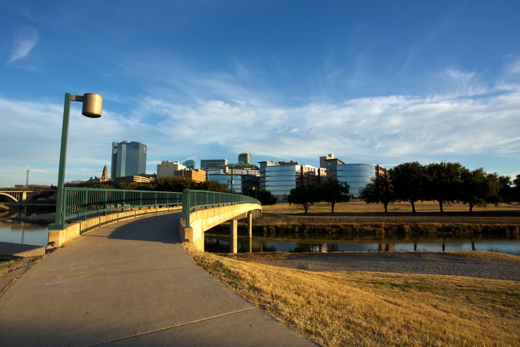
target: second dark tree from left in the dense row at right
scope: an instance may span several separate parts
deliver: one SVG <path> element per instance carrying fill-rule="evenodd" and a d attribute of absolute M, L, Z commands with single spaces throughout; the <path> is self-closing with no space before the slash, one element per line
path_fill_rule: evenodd
<path fill-rule="evenodd" d="M 396 198 L 412 204 L 415 213 L 415 202 L 423 200 L 424 166 L 419 162 L 403 163 L 388 171 Z"/>

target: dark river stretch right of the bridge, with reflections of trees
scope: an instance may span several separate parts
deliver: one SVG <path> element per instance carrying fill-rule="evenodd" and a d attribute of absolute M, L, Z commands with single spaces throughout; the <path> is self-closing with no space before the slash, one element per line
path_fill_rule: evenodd
<path fill-rule="evenodd" d="M 228 253 L 229 233 L 206 232 L 204 249 L 207 252 Z M 348 237 L 313 234 L 253 234 L 238 236 L 238 252 L 393 252 L 393 251 L 491 251 L 520 255 L 520 237 Z"/>

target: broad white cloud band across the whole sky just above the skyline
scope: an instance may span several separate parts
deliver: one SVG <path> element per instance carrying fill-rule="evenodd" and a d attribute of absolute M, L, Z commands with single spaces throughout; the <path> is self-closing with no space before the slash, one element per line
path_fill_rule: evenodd
<path fill-rule="evenodd" d="M 450 69 L 445 75 L 465 88 L 430 97 L 390 95 L 301 106 L 247 98 L 186 103 L 154 95 L 138 99 L 126 115 L 107 107 L 98 120 L 82 117 L 81 105 L 73 105 L 66 179 L 99 175 L 103 165 L 110 166 L 111 142 L 121 140 L 148 145 L 148 172 L 161 160 L 200 160 L 244 150 L 255 160 L 309 163 L 324 153 L 386 165 L 469 156 L 520 161 L 520 87 L 471 94 L 477 74 Z M 0 184 L 21 182 L 19 167 L 27 164 L 48 171 L 38 174 L 41 182 L 55 182 L 61 115 L 61 102 L 0 97 L 0 119 L 9 130 L 4 142 L 24 144 L 3 156 L 3 165 L 12 168 L 2 172 Z"/>

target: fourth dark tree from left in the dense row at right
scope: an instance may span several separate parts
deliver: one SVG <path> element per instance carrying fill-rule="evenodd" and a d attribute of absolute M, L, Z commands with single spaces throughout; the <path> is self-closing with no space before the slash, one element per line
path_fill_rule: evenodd
<path fill-rule="evenodd" d="M 462 171 L 462 187 L 460 200 L 473 207 L 486 207 L 488 203 L 497 205 L 500 202 L 500 181 L 498 174 L 488 174 L 483 168 L 473 171 Z"/>

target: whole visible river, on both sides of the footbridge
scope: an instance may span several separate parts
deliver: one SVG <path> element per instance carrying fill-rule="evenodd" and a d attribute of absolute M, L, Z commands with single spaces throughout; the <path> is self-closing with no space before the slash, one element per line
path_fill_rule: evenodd
<path fill-rule="evenodd" d="M 0 242 L 46 246 L 48 229 L 45 224 L 12 221 L 16 213 L 0 214 Z M 229 233 L 206 232 L 204 249 L 207 252 L 230 251 Z M 349 237 L 330 234 L 253 234 L 239 235 L 238 252 L 366 252 L 366 251 L 491 251 L 520 255 L 520 237 Z"/>

